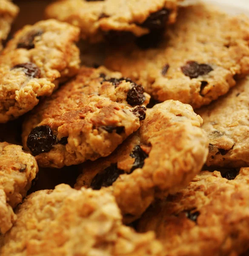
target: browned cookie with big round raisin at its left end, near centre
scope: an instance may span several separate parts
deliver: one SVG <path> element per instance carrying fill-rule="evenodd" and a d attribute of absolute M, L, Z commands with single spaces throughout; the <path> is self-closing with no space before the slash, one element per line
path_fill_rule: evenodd
<path fill-rule="evenodd" d="M 61 168 L 105 157 L 140 126 L 149 95 L 104 67 L 82 67 L 45 99 L 23 125 L 23 145 L 43 167 Z"/>

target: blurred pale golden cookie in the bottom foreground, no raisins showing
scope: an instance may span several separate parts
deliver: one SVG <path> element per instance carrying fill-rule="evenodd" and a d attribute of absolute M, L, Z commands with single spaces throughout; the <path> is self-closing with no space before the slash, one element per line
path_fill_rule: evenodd
<path fill-rule="evenodd" d="M 122 224 L 112 195 L 61 184 L 29 195 L 3 238 L 2 256 L 160 256 L 154 233 Z"/>

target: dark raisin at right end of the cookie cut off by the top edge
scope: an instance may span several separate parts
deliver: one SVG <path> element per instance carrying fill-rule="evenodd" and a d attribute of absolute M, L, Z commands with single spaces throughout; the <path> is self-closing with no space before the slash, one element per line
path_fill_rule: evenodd
<path fill-rule="evenodd" d="M 163 29 L 169 19 L 170 11 L 168 9 L 162 9 L 158 12 L 154 12 L 141 24 L 141 26 L 148 29 Z"/>

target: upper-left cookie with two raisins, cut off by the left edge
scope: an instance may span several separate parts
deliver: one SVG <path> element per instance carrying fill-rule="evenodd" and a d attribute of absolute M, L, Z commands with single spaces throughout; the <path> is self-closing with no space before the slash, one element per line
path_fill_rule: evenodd
<path fill-rule="evenodd" d="M 0 55 L 0 122 L 30 111 L 79 69 L 79 29 L 56 20 L 25 26 Z"/>

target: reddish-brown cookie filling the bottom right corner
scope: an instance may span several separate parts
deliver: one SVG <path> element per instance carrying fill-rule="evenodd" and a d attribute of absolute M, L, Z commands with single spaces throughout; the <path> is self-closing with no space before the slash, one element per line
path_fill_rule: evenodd
<path fill-rule="evenodd" d="M 165 256 L 240 255 L 249 249 L 249 168 L 236 175 L 201 172 L 147 209 L 138 230 L 154 230 Z"/>

